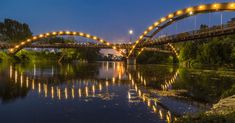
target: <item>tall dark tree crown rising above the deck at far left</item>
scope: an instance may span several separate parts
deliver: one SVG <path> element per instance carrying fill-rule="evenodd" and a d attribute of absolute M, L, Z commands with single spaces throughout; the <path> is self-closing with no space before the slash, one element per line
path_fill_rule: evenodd
<path fill-rule="evenodd" d="M 9 43 L 16 43 L 32 36 L 29 26 L 16 20 L 5 19 L 0 23 L 1 37 L 7 37 Z"/>

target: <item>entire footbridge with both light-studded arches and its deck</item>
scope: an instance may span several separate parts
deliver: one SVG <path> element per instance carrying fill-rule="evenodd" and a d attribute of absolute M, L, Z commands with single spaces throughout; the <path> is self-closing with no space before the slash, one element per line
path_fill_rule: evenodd
<path fill-rule="evenodd" d="M 168 26 L 184 20 L 185 18 L 192 17 L 198 14 L 206 14 L 212 12 L 234 12 L 235 3 L 212 3 L 212 4 L 202 4 L 198 6 L 192 6 L 184 9 L 177 10 L 170 13 L 158 21 L 149 26 L 142 35 L 133 44 L 122 43 L 115 44 L 110 41 L 106 41 L 100 37 L 93 36 L 83 32 L 76 31 L 58 31 L 58 32 L 47 32 L 30 37 L 19 44 L 10 46 L 6 44 L 0 45 L 2 49 L 9 49 L 9 54 L 15 54 L 23 48 L 81 48 L 81 47 L 91 47 L 91 48 L 101 48 L 101 49 L 113 49 L 116 50 L 123 57 L 127 58 L 128 64 L 135 64 L 136 57 L 140 55 L 144 50 L 150 51 L 165 51 L 165 49 L 152 49 L 158 45 L 166 44 L 170 48 L 170 52 L 176 57 L 178 56 L 177 50 L 171 43 L 184 42 L 184 41 L 194 41 L 197 39 L 204 39 L 216 36 L 230 35 L 235 33 L 235 23 L 228 23 L 225 25 L 214 26 L 201 30 L 194 30 L 191 32 L 184 32 L 180 34 L 175 34 L 171 36 L 156 37 L 163 29 Z M 78 36 L 93 40 L 97 43 L 95 44 L 35 44 L 35 42 L 43 41 L 43 39 L 55 37 L 55 36 Z"/>

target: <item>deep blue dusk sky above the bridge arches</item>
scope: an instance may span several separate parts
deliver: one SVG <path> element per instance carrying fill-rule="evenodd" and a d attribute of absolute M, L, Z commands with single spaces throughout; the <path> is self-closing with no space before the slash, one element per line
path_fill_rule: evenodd
<path fill-rule="evenodd" d="M 154 21 L 177 9 L 228 1 L 235 0 L 0 0 L 0 21 L 11 18 L 25 22 L 34 34 L 72 30 L 117 42 L 129 39 L 129 29 L 136 38 Z M 197 23 L 219 24 L 220 15 L 199 15 Z M 224 22 L 231 17 L 235 13 L 224 13 Z M 193 30 L 194 21 L 191 17 L 179 22 L 177 29 L 172 25 L 162 33 Z"/>

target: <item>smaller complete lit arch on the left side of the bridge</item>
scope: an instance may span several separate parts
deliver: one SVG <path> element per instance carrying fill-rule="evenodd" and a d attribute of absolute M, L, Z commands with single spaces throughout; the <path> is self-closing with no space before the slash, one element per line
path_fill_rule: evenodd
<path fill-rule="evenodd" d="M 120 53 L 123 56 L 126 56 L 117 46 L 114 44 L 91 34 L 88 33 L 83 33 L 83 32 L 76 32 L 76 31 L 55 31 L 55 32 L 47 32 L 39 35 L 32 36 L 24 41 L 21 41 L 20 43 L 14 45 L 14 47 L 8 49 L 9 54 L 16 54 L 20 50 L 22 50 L 25 46 L 28 44 L 31 44 L 33 42 L 38 41 L 39 39 L 43 38 L 49 38 L 49 37 L 54 37 L 54 36 L 79 36 L 79 37 L 84 37 L 87 39 L 94 40 L 98 43 L 104 44 L 106 46 L 110 46 L 113 50 L 116 50 L 118 53 Z"/>

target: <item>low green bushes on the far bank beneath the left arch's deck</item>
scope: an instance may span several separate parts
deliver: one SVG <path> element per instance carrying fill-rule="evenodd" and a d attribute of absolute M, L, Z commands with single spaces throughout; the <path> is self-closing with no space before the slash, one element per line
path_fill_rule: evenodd
<path fill-rule="evenodd" d="M 43 62 L 50 60 L 59 60 L 63 55 L 63 62 L 72 62 L 75 60 L 96 61 L 101 58 L 99 49 L 81 48 L 81 49 L 62 49 L 62 52 L 32 51 L 21 50 L 15 56 L 8 56 L 0 52 L 0 58 L 12 63 Z"/>

